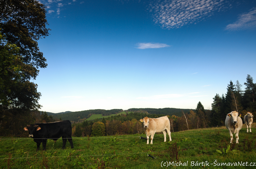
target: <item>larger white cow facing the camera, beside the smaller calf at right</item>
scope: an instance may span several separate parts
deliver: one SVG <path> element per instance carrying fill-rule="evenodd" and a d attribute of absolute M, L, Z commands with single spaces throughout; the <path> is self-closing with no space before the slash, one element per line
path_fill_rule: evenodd
<path fill-rule="evenodd" d="M 230 112 L 229 114 L 227 114 L 226 120 L 225 120 L 225 125 L 226 128 L 229 130 L 230 133 L 230 143 L 232 143 L 233 141 L 233 134 L 232 133 L 236 133 L 235 137 L 236 137 L 236 143 L 238 143 L 239 137 L 238 137 L 238 133 L 239 130 L 242 128 L 243 125 L 243 121 L 240 118 L 242 115 L 239 114 L 236 111 Z"/>

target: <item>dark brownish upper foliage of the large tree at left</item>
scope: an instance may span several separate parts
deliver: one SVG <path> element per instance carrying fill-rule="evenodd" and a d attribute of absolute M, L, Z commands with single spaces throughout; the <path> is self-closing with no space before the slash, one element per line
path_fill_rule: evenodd
<path fill-rule="evenodd" d="M 46 6 L 36 0 L 1 0 L 1 33 L 11 44 L 20 48 L 23 62 L 33 67 L 47 66 L 37 40 L 49 35 Z"/>

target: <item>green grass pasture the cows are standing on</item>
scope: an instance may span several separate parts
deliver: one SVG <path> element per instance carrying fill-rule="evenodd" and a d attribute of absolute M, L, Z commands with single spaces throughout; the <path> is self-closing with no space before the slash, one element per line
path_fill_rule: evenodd
<path fill-rule="evenodd" d="M 73 137 L 74 149 L 67 142 L 62 150 L 59 139 L 56 144 L 48 140 L 46 151 L 35 151 L 36 143 L 31 138 L 1 138 L 0 168 L 250 169 L 256 168 L 255 133 L 255 128 L 246 133 L 243 124 L 239 144 L 230 144 L 225 126 L 174 132 L 171 142 L 163 142 L 163 134 L 157 134 L 153 145 L 140 139 L 146 134 Z"/>

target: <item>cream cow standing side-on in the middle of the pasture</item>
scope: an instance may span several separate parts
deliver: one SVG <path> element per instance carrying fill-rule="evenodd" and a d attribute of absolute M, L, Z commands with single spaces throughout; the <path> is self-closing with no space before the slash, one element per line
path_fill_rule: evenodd
<path fill-rule="evenodd" d="M 148 118 L 145 117 L 140 120 L 144 124 L 144 130 L 147 135 L 147 144 L 149 144 L 149 136 L 151 139 L 150 144 L 153 144 L 153 138 L 155 133 L 162 133 L 164 135 L 164 142 L 166 142 L 166 131 L 171 141 L 170 121 L 167 116 L 160 118 Z M 165 131 L 166 130 L 166 131 Z"/>

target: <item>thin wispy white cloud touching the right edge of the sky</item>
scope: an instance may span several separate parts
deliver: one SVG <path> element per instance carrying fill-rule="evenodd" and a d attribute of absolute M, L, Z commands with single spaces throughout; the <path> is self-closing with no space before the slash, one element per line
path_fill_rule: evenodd
<path fill-rule="evenodd" d="M 256 8 L 252 8 L 250 12 L 244 13 L 238 17 L 238 20 L 226 26 L 226 30 L 246 30 L 256 28 Z"/>

